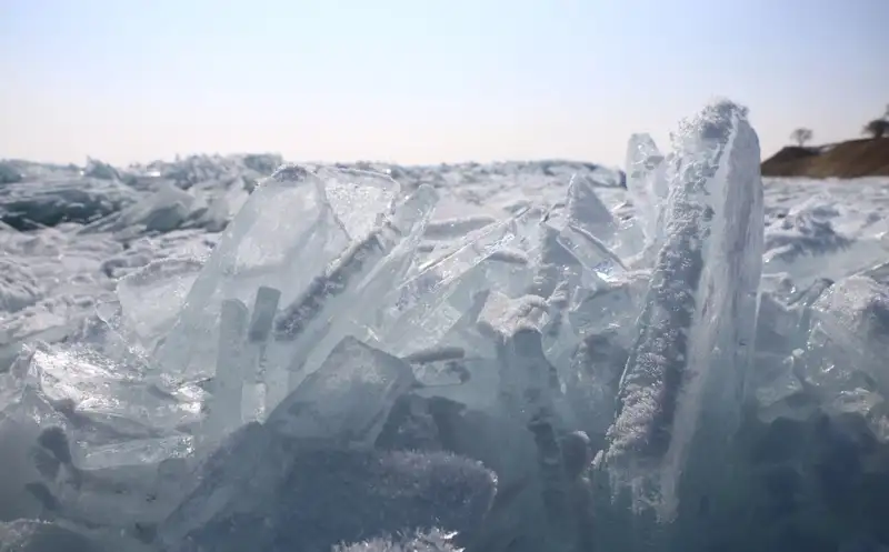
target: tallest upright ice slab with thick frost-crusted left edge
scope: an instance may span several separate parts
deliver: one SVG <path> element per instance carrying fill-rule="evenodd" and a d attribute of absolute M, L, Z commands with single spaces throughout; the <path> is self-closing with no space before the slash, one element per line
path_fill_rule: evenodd
<path fill-rule="evenodd" d="M 620 466 L 618 478 L 650 478 L 643 493 L 655 493 L 667 518 L 677 513 L 680 483 L 698 489 L 692 494 L 706 484 L 681 478 L 692 449 L 707 448 L 706 461 L 719 465 L 739 421 L 763 248 L 759 142 L 745 110 L 730 102 L 708 107 L 680 126 L 675 149 L 668 237 L 606 455 Z M 641 508 L 652 496 L 635 499 Z"/>

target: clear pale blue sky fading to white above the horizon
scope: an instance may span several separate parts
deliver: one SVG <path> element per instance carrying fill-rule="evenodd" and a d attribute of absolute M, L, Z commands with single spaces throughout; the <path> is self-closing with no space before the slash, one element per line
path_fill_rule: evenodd
<path fill-rule="evenodd" d="M 622 164 L 713 97 L 858 137 L 889 0 L 0 0 L 0 158 Z"/>

